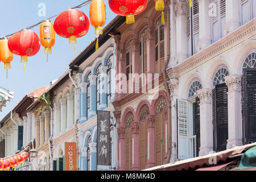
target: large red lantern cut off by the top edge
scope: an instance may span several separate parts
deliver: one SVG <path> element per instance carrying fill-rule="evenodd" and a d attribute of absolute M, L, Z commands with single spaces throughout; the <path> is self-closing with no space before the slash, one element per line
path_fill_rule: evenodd
<path fill-rule="evenodd" d="M 142 13 L 148 0 L 109 0 L 110 9 L 118 15 L 126 16 L 126 23 L 134 23 L 134 15 Z"/>

